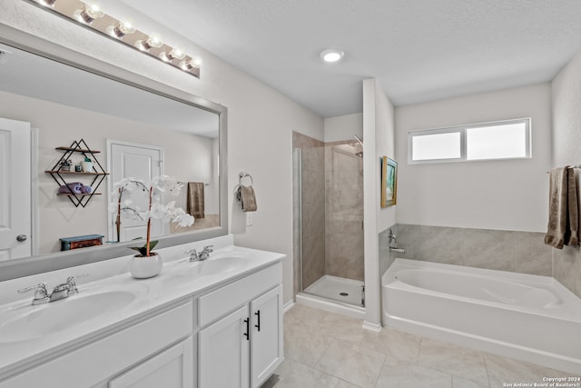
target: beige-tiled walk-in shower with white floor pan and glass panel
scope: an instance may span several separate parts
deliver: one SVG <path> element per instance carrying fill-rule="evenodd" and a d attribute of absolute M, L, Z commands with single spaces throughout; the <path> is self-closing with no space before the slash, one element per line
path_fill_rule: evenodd
<path fill-rule="evenodd" d="M 310 139 L 294 148 L 295 292 L 300 302 L 306 298 L 311 304 L 336 303 L 364 312 L 361 155 L 359 138 L 327 144 Z"/>

